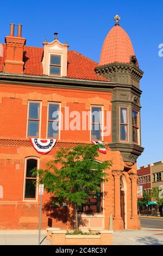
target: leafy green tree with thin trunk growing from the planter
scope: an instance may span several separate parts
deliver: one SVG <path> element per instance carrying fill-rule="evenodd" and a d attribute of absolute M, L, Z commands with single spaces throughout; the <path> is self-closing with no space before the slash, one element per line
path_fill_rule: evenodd
<path fill-rule="evenodd" d="M 104 170 L 109 169 L 111 161 L 97 162 L 99 145 L 78 145 L 74 148 L 61 148 L 49 161 L 46 169 L 34 169 L 39 183 L 44 184 L 48 193 L 52 193 L 55 202 L 73 206 L 74 223 L 78 234 L 78 208 L 87 202 L 89 194 L 99 192 L 99 184 L 107 179 Z"/>

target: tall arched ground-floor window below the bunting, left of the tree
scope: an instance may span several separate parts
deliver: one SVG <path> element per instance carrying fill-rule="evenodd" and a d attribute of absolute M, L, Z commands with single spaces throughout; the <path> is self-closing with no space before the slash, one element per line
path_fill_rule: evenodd
<path fill-rule="evenodd" d="M 37 159 L 27 159 L 25 164 L 24 199 L 36 199 L 36 180 L 32 170 L 37 168 Z"/>

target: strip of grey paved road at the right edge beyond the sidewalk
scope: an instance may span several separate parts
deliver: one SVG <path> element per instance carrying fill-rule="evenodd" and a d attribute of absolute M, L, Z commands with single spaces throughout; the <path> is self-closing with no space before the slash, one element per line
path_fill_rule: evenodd
<path fill-rule="evenodd" d="M 140 218 L 142 228 L 156 228 L 163 230 L 163 219 L 157 218 Z"/>

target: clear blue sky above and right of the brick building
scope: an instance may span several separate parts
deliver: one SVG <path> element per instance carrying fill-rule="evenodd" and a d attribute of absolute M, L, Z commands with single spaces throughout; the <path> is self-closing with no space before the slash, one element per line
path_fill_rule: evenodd
<path fill-rule="evenodd" d="M 47 4 L 47 6 L 46 6 Z M 138 166 L 163 160 L 163 57 L 159 57 L 159 44 L 163 44 L 163 1 L 8 1 L 1 2 L 0 42 L 9 35 L 11 22 L 23 25 L 22 35 L 27 45 L 42 46 L 52 41 L 54 31 L 61 42 L 67 41 L 70 50 L 99 61 L 106 34 L 114 26 L 113 17 L 121 16 L 121 26 L 134 45 L 140 68 L 145 72 L 140 89 L 142 145 L 145 151 Z"/>

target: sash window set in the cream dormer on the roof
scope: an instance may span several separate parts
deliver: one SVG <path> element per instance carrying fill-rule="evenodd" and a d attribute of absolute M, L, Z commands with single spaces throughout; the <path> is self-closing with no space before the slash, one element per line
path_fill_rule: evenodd
<path fill-rule="evenodd" d="M 51 54 L 49 75 L 61 76 L 61 55 Z"/>

